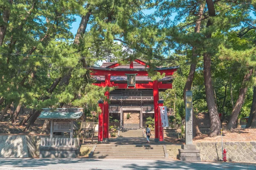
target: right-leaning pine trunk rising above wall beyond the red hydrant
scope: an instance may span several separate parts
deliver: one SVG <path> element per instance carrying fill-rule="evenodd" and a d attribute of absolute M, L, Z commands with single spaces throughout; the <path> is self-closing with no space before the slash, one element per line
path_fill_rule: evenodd
<path fill-rule="evenodd" d="M 228 121 L 227 124 L 227 129 L 231 130 L 233 128 L 236 128 L 236 120 L 238 118 L 238 115 L 241 111 L 242 105 L 244 103 L 244 98 L 246 95 L 246 91 L 248 88 L 247 82 L 250 80 L 251 75 L 253 74 L 253 68 L 249 71 L 249 73 L 245 74 L 240 91 L 239 91 L 239 96 L 236 101 L 235 107 L 231 113 L 231 117 Z"/>

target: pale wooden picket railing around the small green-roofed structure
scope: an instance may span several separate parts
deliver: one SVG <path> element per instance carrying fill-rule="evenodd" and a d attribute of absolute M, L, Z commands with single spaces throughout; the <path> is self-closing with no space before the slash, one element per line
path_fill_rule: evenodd
<path fill-rule="evenodd" d="M 41 147 L 78 147 L 79 138 L 41 138 Z"/>

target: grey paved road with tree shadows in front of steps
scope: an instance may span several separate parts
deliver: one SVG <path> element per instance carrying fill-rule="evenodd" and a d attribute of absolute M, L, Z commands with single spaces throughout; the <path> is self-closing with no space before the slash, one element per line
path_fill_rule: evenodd
<path fill-rule="evenodd" d="M 0 159 L 0 170 L 256 170 L 256 164 L 133 159 Z"/>

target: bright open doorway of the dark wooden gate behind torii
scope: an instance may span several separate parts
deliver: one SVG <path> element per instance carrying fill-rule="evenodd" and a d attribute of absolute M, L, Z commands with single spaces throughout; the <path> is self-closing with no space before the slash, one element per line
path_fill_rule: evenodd
<path fill-rule="evenodd" d="M 140 129 L 140 112 L 124 112 L 123 127 L 125 129 Z"/>

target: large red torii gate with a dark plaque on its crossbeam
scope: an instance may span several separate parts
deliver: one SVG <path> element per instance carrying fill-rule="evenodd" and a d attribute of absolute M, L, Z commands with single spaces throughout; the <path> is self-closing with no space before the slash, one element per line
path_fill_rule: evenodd
<path fill-rule="evenodd" d="M 135 83 L 136 77 L 148 77 L 148 68 L 145 62 L 135 59 L 130 62 L 130 65 L 120 65 L 119 63 L 105 63 L 106 67 L 91 67 L 88 68 L 92 71 L 91 76 L 103 77 L 105 78 L 101 82 L 94 83 L 101 87 L 113 87 L 116 86 L 117 89 L 153 89 L 153 101 L 154 101 L 154 121 L 155 121 L 155 142 L 163 141 L 163 127 L 161 123 L 161 117 L 159 112 L 159 105 L 163 103 L 158 103 L 159 101 L 159 90 L 160 89 L 170 89 L 172 88 L 172 82 L 164 82 L 164 79 L 169 80 L 170 76 L 177 71 L 178 66 L 175 67 L 165 67 L 165 68 L 155 68 L 154 71 L 159 72 L 161 75 L 165 74 L 165 78 L 162 80 L 148 80 L 147 82 Z M 135 66 L 135 67 L 134 67 Z M 127 83 L 118 83 L 116 80 L 111 81 L 111 77 L 125 77 L 127 76 Z M 144 78 L 145 79 L 145 78 Z M 147 78 L 149 79 L 149 78 Z M 131 83 L 131 84 L 130 84 Z M 105 96 L 109 99 L 110 93 L 105 92 Z M 108 142 L 108 127 L 109 127 L 109 104 L 107 101 L 99 101 L 99 107 L 102 113 L 99 114 L 99 142 Z"/>

